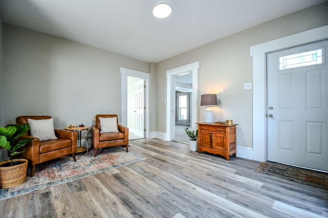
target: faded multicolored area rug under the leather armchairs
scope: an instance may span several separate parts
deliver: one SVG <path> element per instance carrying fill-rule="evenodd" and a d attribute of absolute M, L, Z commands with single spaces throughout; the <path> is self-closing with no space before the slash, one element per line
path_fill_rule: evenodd
<path fill-rule="evenodd" d="M 23 184 L 12 188 L 0 188 L 0 200 L 147 159 L 130 151 L 127 153 L 125 148 L 119 146 L 107 148 L 100 153 L 98 150 L 96 157 L 93 157 L 93 154 L 94 150 L 88 154 L 76 154 L 76 162 L 72 156 L 65 156 L 40 163 L 36 165 L 33 177 L 29 176 L 31 168 L 28 168 L 28 176 Z"/>

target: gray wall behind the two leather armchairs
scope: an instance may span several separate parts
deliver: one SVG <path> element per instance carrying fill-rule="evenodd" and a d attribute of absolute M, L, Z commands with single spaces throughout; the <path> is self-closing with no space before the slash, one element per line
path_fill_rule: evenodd
<path fill-rule="evenodd" d="M 2 36 L 0 126 L 19 115 L 51 115 L 60 129 L 120 117 L 120 67 L 149 72 L 149 63 L 6 23 Z"/>

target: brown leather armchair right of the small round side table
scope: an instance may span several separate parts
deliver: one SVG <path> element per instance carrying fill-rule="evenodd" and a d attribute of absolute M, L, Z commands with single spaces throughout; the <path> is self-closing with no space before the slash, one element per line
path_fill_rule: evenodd
<path fill-rule="evenodd" d="M 99 117 L 116 117 L 118 132 L 100 133 L 101 127 Z M 114 146 L 125 146 L 128 152 L 129 128 L 118 125 L 117 114 L 97 114 L 95 124 L 95 126 L 92 126 L 92 144 L 95 150 L 94 156 L 97 155 L 97 149 Z"/>

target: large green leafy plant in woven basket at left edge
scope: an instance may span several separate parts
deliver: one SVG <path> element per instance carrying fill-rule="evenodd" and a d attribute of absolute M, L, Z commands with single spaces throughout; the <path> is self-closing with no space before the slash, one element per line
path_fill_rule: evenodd
<path fill-rule="evenodd" d="M 0 146 L 8 150 L 10 160 L 0 162 L 0 187 L 9 188 L 22 184 L 26 179 L 27 164 L 26 159 L 13 159 L 16 154 L 25 151 L 19 151 L 19 148 L 33 138 L 19 139 L 30 129 L 30 125 L 10 124 L 6 127 L 0 127 Z"/>

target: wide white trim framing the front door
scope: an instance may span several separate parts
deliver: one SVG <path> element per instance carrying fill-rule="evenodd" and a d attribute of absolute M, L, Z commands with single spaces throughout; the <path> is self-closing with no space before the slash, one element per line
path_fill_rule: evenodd
<path fill-rule="evenodd" d="M 253 160 L 267 161 L 266 54 L 327 38 L 328 25 L 250 47 L 253 56 Z"/>

